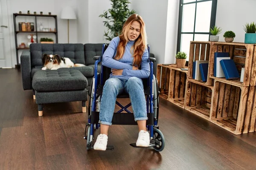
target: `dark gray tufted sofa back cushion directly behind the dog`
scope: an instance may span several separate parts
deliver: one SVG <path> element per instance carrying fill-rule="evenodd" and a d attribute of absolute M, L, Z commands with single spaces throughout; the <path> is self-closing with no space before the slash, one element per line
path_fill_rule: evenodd
<path fill-rule="evenodd" d="M 40 44 L 32 43 L 30 46 L 31 65 L 40 66 L 43 54 L 58 54 L 70 58 L 72 62 L 85 64 L 83 44 Z"/>

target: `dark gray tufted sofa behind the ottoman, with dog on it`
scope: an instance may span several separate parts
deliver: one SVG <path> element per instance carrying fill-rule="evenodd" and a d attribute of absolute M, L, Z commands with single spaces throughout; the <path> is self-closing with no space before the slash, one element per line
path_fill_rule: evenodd
<path fill-rule="evenodd" d="M 36 71 L 43 67 L 43 54 L 58 54 L 68 57 L 72 62 L 86 65 L 85 67 L 60 68 L 76 69 L 87 78 L 88 87 L 94 75 L 93 57 L 102 54 L 102 44 L 41 44 L 33 43 L 29 51 L 23 51 L 20 57 L 22 83 L 24 90 L 32 90 L 32 78 Z M 100 65 L 98 66 L 100 71 Z"/>

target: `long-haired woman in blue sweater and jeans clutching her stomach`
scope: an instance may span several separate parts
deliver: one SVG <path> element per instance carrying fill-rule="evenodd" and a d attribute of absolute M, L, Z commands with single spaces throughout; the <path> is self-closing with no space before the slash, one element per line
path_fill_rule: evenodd
<path fill-rule="evenodd" d="M 103 54 L 102 65 L 112 68 L 112 73 L 103 87 L 99 112 L 101 134 L 93 148 L 106 150 L 108 128 L 112 125 L 116 96 L 123 91 L 130 96 L 134 120 L 139 127 L 136 145 L 148 147 L 150 138 L 146 130 L 148 117 L 142 79 L 148 78 L 150 67 L 145 24 L 139 15 L 131 15 L 125 22 L 121 35 L 111 40 Z"/>

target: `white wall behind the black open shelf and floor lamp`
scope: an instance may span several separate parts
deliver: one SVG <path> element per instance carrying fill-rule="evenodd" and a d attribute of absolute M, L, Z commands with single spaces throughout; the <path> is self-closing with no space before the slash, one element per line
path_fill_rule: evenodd
<path fill-rule="evenodd" d="M 61 20 L 61 9 L 64 6 L 71 6 L 77 11 L 77 0 L 8 0 L 8 16 L 9 16 L 9 30 L 10 30 L 10 40 L 11 40 L 11 48 L 12 48 L 12 67 L 15 67 L 16 63 L 16 51 L 15 51 L 15 34 L 14 34 L 14 23 L 13 23 L 13 13 L 18 13 L 22 11 L 22 13 L 27 13 L 29 10 L 30 13 L 34 11 L 37 14 L 40 11 L 43 11 L 44 14 L 48 14 L 51 12 L 52 14 L 57 15 L 58 18 L 58 42 L 59 43 L 67 43 L 67 20 Z M 17 22 L 33 22 L 34 20 L 30 17 L 18 17 Z M 45 27 L 55 27 L 54 19 L 42 18 L 38 21 L 38 25 L 42 22 Z M 35 21 L 34 21 L 35 23 Z M 17 23 L 18 24 L 18 23 Z M 18 28 L 18 27 L 17 27 Z M 29 33 L 19 33 L 17 42 L 20 45 L 21 42 L 28 42 L 26 38 Z M 53 38 L 55 40 L 54 34 L 40 34 L 40 37 L 48 37 Z M 75 43 L 78 41 L 77 34 L 77 20 L 70 20 L 70 43 Z M 19 50 L 19 57 L 21 54 L 21 50 Z"/>

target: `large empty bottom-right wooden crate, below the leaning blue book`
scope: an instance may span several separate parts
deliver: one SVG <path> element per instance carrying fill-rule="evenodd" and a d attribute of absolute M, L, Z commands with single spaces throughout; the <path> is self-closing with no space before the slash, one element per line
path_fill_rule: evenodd
<path fill-rule="evenodd" d="M 211 121 L 236 135 L 256 131 L 256 86 L 236 86 L 215 80 Z"/>

